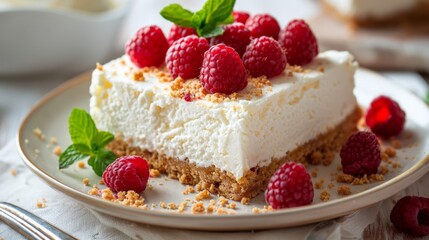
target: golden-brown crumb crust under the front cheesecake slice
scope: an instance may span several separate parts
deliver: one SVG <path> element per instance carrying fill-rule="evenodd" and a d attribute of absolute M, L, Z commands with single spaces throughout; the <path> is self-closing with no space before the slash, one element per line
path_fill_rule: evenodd
<path fill-rule="evenodd" d="M 357 122 L 362 111 L 357 107 L 337 127 L 317 138 L 301 145 L 285 157 L 272 159 L 268 166 L 254 167 L 248 170 L 244 177 L 236 180 L 230 172 L 222 171 L 215 166 L 198 167 L 195 163 L 180 161 L 158 152 L 149 152 L 139 147 L 131 146 L 126 140 L 116 138 L 108 148 L 117 156 L 139 155 L 144 157 L 152 169 L 157 169 L 168 177 L 178 179 L 183 184 L 198 185 L 199 190 L 208 190 L 229 199 L 240 201 L 242 198 L 253 198 L 263 192 L 273 173 L 285 162 L 295 161 L 329 165 L 334 153 L 338 152 L 348 136 L 357 130 Z"/>

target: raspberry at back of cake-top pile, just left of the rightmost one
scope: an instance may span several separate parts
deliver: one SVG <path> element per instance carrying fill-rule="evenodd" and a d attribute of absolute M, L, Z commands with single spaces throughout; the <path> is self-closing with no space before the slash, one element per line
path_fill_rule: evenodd
<path fill-rule="evenodd" d="M 247 19 L 245 26 L 253 38 L 267 36 L 277 40 L 280 26 L 277 20 L 269 14 L 257 14 Z"/>

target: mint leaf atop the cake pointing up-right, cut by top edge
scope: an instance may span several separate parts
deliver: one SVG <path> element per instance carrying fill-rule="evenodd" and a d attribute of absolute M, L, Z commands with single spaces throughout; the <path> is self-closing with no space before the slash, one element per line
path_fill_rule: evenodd
<path fill-rule="evenodd" d="M 235 0 L 208 0 L 203 6 L 207 12 L 206 23 L 221 23 L 228 19 L 234 4 Z"/>

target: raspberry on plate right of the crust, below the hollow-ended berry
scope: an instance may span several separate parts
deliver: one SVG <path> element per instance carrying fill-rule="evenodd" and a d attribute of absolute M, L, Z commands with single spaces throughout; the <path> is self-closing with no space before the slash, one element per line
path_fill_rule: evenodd
<path fill-rule="evenodd" d="M 377 136 L 372 132 L 353 133 L 340 152 L 343 172 L 353 176 L 377 173 L 381 162 Z"/>

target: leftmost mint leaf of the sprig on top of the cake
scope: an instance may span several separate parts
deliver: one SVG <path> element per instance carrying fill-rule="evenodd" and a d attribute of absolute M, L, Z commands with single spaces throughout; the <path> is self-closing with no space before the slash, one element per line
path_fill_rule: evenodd
<path fill-rule="evenodd" d="M 161 12 L 161 16 L 182 27 L 193 27 L 192 16 L 194 13 L 184 9 L 179 4 L 170 4 L 164 7 Z"/>

